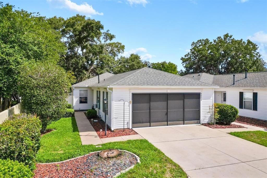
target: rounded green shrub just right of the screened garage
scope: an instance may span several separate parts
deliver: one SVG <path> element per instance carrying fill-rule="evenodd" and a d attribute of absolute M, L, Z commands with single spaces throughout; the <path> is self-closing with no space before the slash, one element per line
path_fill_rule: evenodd
<path fill-rule="evenodd" d="M 217 122 L 220 124 L 230 125 L 238 117 L 238 109 L 232 105 L 214 103 L 214 108 L 218 109 L 219 117 Z"/>

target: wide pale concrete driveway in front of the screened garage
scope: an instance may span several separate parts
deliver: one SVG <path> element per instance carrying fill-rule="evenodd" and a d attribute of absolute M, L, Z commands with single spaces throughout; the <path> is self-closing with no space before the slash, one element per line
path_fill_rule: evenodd
<path fill-rule="evenodd" d="M 267 177 L 267 148 L 202 125 L 134 129 L 190 177 Z"/>

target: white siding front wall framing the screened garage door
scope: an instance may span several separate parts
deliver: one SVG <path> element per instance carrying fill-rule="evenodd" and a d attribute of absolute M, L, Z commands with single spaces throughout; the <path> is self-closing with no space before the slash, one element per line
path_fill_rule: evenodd
<path fill-rule="evenodd" d="M 209 107 L 213 105 L 213 88 L 113 88 L 114 95 L 114 129 L 123 128 L 123 101 L 131 100 L 132 93 L 153 93 L 153 92 L 163 92 L 163 93 L 188 93 L 188 92 L 198 92 L 201 93 L 201 123 L 210 122 L 210 109 Z M 124 126 L 127 127 L 127 122 L 131 128 L 131 104 L 125 103 L 124 112 Z"/>

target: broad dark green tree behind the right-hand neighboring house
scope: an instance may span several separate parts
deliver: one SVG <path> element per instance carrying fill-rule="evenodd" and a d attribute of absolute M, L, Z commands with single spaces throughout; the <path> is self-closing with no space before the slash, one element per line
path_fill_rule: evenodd
<path fill-rule="evenodd" d="M 228 33 L 215 40 L 198 40 L 190 52 L 181 58 L 184 74 L 206 72 L 213 75 L 266 71 L 265 61 L 257 52 L 258 46 L 250 40 L 236 40 Z"/>

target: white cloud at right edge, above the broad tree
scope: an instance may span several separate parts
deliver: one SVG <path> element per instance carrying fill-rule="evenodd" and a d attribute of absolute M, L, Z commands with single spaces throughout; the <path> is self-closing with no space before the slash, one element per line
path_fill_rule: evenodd
<path fill-rule="evenodd" d="M 258 52 L 261 54 L 262 59 L 267 62 L 267 33 L 260 31 L 249 36 L 248 39 L 258 45 Z"/>

